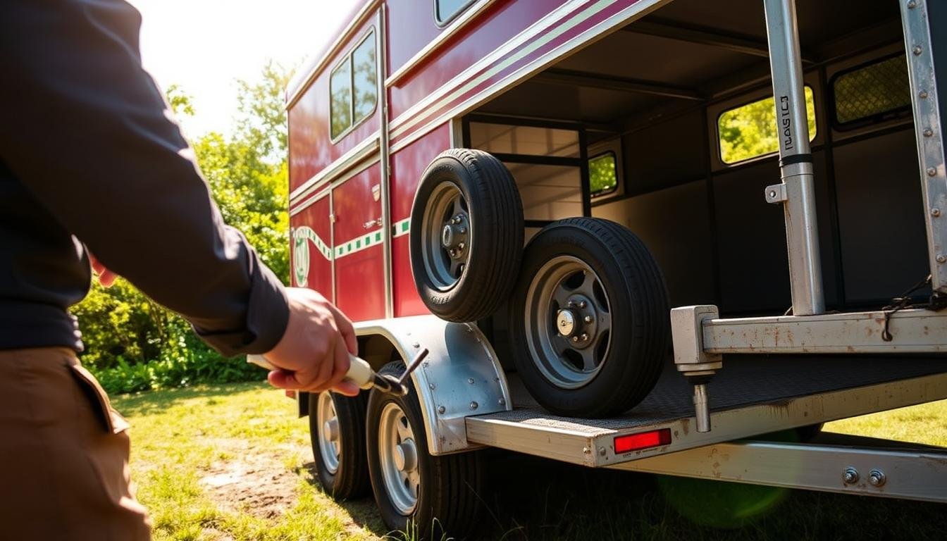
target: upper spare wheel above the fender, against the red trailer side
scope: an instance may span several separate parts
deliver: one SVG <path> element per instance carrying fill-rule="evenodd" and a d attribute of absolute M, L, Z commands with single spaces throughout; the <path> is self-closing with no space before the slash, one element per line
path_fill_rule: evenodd
<path fill-rule="evenodd" d="M 452 199 L 457 192 L 460 198 Z M 465 208 L 440 209 L 447 200 Z M 449 222 L 454 216 L 463 221 Z M 452 247 L 442 239 L 451 239 Z M 503 163 L 469 149 L 440 153 L 420 179 L 410 245 L 415 286 L 432 314 L 465 322 L 496 312 L 509 296 L 523 253 L 523 203 Z"/>

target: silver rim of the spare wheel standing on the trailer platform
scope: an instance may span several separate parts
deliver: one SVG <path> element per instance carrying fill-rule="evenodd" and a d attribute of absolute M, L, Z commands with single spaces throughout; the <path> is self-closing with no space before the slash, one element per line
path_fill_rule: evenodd
<path fill-rule="evenodd" d="M 547 261 L 529 283 L 527 347 L 545 378 L 580 388 L 596 377 L 612 341 L 612 310 L 599 275 L 578 258 Z"/>

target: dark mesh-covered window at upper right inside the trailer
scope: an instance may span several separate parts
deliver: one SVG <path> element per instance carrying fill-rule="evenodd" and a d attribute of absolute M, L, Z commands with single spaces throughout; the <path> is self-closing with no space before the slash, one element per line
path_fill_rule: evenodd
<path fill-rule="evenodd" d="M 837 75 L 832 81 L 835 121 L 849 124 L 884 117 L 911 105 L 907 62 L 903 55 Z"/>

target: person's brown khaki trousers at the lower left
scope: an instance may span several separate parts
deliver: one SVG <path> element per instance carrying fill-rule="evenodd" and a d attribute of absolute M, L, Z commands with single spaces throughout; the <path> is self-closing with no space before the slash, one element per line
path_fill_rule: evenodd
<path fill-rule="evenodd" d="M 0 540 L 150 539 L 127 429 L 71 350 L 0 350 Z"/>

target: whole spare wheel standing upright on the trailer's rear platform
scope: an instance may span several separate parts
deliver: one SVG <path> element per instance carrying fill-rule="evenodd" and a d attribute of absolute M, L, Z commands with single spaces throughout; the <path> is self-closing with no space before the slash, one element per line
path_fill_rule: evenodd
<path fill-rule="evenodd" d="M 509 333 L 516 369 L 540 405 L 560 415 L 615 415 L 641 402 L 661 373 L 667 288 L 627 228 L 562 220 L 527 245 Z"/>

